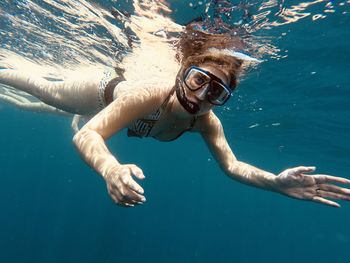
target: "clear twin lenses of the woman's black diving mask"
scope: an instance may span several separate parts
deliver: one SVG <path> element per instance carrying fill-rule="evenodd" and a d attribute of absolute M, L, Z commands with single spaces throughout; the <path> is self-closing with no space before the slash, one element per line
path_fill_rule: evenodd
<path fill-rule="evenodd" d="M 201 68 L 190 67 L 184 75 L 186 87 L 191 91 L 206 89 L 207 100 L 214 105 L 223 105 L 231 96 L 231 90 L 222 80 Z"/>

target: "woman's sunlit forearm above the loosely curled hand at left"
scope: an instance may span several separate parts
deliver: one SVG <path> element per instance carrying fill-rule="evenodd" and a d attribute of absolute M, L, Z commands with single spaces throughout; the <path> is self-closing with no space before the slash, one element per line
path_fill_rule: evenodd
<path fill-rule="evenodd" d="M 118 160 L 108 150 L 104 139 L 97 132 L 83 128 L 73 138 L 74 145 L 85 162 L 102 177 L 120 166 Z"/>

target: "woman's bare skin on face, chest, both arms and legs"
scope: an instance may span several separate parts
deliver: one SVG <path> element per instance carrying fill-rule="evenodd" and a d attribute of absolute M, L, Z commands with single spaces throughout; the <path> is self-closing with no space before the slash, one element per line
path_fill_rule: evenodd
<path fill-rule="evenodd" d="M 229 75 L 225 68 L 215 64 L 198 66 L 221 78 L 226 84 L 229 83 Z M 180 73 L 184 70 L 180 69 Z M 83 80 L 51 82 L 33 77 L 35 74 L 31 74 L 30 70 L 2 69 L 0 83 L 37 97 L 46 103 L 45 108 L 53 107 L 50 109 L 55 109 L 54 111 L 57 112 L 63 110 L 72 114 L 90 116 L 98 111 L 96 96 L 101 74 L 94 70 L 84 74 L 88 78 Z M 128 127 L 134 120 L 157 110 L 169 96 L 172 88 L 171 85 L 160 82 L 122 82 L 115 89 L 116 99 L 74 136 L 73 141 L 82 158 L 102 175 L 106 181 L 108 193 L 119 205 L 129 207 L 146 201 L 143 188 L 135 180 L 143 180 L 145 177 L 136 165 L 119 163 L 109 152 L 105 141 Z M 348 179 L 322 174 L 308 175 L 315 171 L 315 167 L 301 166 L 287 169 L 276 176 L 240 162 L 227 143 L 221 122 L 212 111 L 213 105 L 205 100 L 203 90 L 195 92 L 187 88 L 184 90 L 187 98 L 200 106 L 192 132 L 201 134 L 218 164 L 230 178 L 289 197 L 334 207 L 340 207 L 340 205 L 329 199 L 350 199 L 349 189 L 334 185 L 335 183 L 349 184 Z M 11 96 L 11 101 L 14 99 L 18 101 L 17 97 Z M 20 102 L 22 103 L 22 99 Z M 160 141 L 173 139 L 189 127 L 192 118 L 193 115 L 181 106 L 173 94 L 150 135 Z"/>

